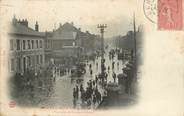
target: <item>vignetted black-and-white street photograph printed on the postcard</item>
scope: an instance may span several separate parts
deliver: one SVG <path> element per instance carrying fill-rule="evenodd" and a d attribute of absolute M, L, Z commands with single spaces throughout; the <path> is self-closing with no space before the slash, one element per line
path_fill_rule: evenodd
<path fill-rule="evenodd" d="M 53 22 L 49 31 L 40 30 L 38 21 L 12 17 L 8 84 L 17 105 L 109 109 L 137 102 L 143 27 L 134 12 L 123 17 L 124 27 L 123 19 L 117 27 L 68 21 Z"/>

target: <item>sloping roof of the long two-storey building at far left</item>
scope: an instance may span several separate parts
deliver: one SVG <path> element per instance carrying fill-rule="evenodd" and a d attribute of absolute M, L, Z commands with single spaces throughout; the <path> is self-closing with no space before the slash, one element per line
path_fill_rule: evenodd
<path fill-rule="evenodd" d="M 38 32 L 20 23 L 11 24 L 10 34 L 44 37 L 45 32 Z"/>

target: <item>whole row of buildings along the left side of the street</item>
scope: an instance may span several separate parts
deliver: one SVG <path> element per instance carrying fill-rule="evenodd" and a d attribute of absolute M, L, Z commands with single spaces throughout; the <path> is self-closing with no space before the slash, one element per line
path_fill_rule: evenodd
<path fill-rule="evenodd" d="M 37 71 L 50 63 L 72 65 L 72 61 L 94 54 L 100 49 L 100 36 L 82 32 L 73 23 L 64 23 L 50 32 L 29 27 L 27 19 L 13 18 L 9 35 L 9 71 L 24 73 Z M 70 64 L 68 64 L 70 63 Z"/>

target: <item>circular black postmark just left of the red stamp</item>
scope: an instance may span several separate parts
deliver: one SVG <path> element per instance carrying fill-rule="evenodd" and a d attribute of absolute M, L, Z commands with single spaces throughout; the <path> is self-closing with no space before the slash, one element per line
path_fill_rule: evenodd
<path fill-rule="evenodd" d="M 152 23 L 157 22 L 157 1 L 156 0 L 144 0 L 143 11 L 145 17 Z"/>

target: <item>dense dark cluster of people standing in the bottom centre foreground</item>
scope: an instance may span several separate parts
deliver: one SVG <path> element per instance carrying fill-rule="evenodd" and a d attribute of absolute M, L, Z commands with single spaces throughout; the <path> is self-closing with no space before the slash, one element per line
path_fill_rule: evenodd
<path fill-rule="evenodd" d="M 89 74 L 92 76 L 93 68 L 92 64 L 88 64 L 89 66 Z M 115 63 L 112 63 L 115 65 Z M 98 67 L 98 62 L 96 62 L 96 67 Z M 108 67 L 110 70 L 110 67 Z M 114 69 L 112 69 L 114 70 Z M 84 89 L 83 84 L 78 84 L 73 88 L 73 106 L 77 108 L 77 104 L 79 104 L 82 108 L 94 108 L 99 105 L 103 96 L 107 95 L 107 78 L 108 73 L 104 72 L 104 74 L 95 74 L 94 79 L 90 79 L 87 82 L 87 87 Z M 116 82 L 116 73 L 113 71 L 112 77 L 114 82 Z M 78 101 L 81 101 L 78 102 Z"/>

